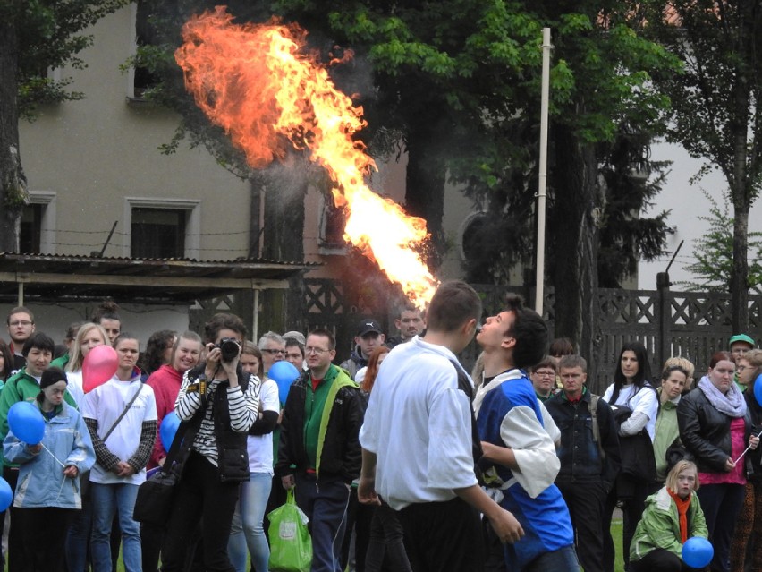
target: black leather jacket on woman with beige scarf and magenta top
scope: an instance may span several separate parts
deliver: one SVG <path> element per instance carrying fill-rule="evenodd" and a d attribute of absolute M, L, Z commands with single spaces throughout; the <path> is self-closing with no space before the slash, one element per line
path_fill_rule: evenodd
<path fill-rule="evenodd" d="M 751 432 L 751 414 L 747 407 L 745 439 Z M 700 473 L 724 473 L 725 462 L 731 457 L 732 417 L 720 413 L 700 388 L 691 389 L 677 406 L 677 425 L 680 440 L 694 457 Z"/>

